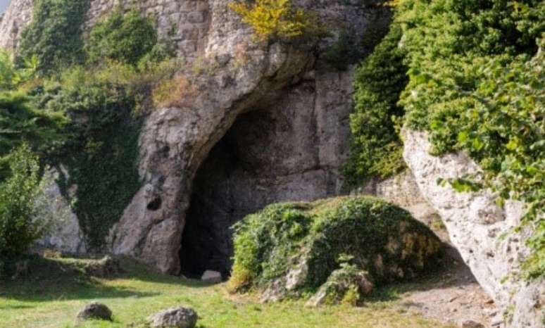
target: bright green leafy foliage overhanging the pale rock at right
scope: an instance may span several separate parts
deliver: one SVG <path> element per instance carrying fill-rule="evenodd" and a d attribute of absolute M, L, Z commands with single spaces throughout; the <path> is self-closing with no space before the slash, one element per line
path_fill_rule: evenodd
<path fill-rule="evenodd" d="M 399 7 L 410 82 L 408 125 L 435 154 L 461 150 L 472 179 L 528 204 L 529 277 L 545 275 L 545 2 L 406 0 Z M 541 46 L 541 51 L 538 51 Z M 453 181 L 459 189 L 467 183 Z"/>

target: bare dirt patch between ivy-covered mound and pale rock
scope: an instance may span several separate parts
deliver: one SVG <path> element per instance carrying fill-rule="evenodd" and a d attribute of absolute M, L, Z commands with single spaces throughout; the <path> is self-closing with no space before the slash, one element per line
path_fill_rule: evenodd
<path fill-rule="evenodd" d="M 486 328 L 505 327 L 501 311 L 461 259 L 452 260 L 449 268 L 438 275 L 425 289 L 401 296 L 400 306 L 458 327 L 478 327 L 471 326 L 468 321 Z M 468 325 L 463 325 L 464 322 Z"/>

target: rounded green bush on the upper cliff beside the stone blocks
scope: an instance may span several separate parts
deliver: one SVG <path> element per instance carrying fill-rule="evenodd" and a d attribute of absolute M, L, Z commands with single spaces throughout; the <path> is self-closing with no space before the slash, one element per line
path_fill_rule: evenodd
<path fill-rule="evenodd" d="M 86 49 L 91 63 L 107 59 L 137 65 L 146 54 L 166 56 L 168 49 L 154 49 L 156 44 L 157 32 L 150 18 L 136 9 L 123 13 L 118 8 L 93 27 Z"/>

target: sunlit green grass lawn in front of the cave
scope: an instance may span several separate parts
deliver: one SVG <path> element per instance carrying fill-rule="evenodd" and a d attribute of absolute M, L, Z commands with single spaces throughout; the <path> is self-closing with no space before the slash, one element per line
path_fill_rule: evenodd
<path fill-rule="evenodd" d="M 307 308 L 303 302 L 261 304 L 255 296 L 232 296 L 225 284 L 213 286 L 159 275 L 124 261 L 115 279 L 82 274 L 81 260 L 37 259 L 30 276 L 0 282 L 0 327 L 73 327 L 77 312 L 90 301 L 113 310 L 113 322 L 81 327 L 144 327 L 157 310 L 189 306 L 204 327 L 449 327 L 407 313 L 394 298 L 378 298 L 361 308 L 348 305 Z"/>

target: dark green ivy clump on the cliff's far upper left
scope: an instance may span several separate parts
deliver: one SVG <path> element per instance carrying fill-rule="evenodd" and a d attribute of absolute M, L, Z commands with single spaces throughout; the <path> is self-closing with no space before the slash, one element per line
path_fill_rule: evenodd
<path fill-rule="evenodd" d="M 37 0 L 23 30 L 19 58 L 37 56 L 40 72 L 51 73 L 84 60 L 82 25 L 89 0 Z"/>

